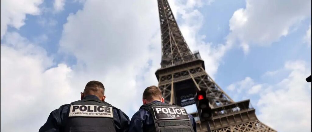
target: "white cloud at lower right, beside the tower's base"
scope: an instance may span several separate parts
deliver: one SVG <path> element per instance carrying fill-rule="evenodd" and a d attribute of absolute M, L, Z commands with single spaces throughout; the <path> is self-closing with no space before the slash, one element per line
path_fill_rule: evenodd
<path fill-rule="evenodd" d="M 284 68 L 277 69 L 275 74 L 287 74 L 280 82 L 272 84 L 257 84 L 247 77 L 242 81 L 228 86 L 248 86 L 250 89 L 241 90 L 245 98 L 256 103 L 259 111 L 258 118 L 261 122 L 275 130 L 283 132 L 309 132 L 311 131 L 311 83 L 305 82 L 305 78 L 311 73 L 311 66 L 305 61 L 289 61 Z M 268 76 L 268 78 L 275 78 Z M 243 82 L 243 83 L 242 83 Z M 241 88 L 242 89 L 242 88 Z M 243 97 L 237 97 L 242 100 Z"/>

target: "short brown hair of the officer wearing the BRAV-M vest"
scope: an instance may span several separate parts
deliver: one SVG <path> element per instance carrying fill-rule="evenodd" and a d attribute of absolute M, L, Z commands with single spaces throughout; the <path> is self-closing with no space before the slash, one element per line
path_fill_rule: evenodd
<path fill-rule="evenodd" d="M 143 99 L 151 101 L 152 99 L 161 99 L 161 90 L 157 86 L 149 86 L 143 92 Z"/>

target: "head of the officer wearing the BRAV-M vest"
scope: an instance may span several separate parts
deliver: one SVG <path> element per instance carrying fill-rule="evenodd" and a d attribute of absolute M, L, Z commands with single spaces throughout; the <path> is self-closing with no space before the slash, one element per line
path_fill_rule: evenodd
<path fill-rule="evenodd" d="M 143 92 L 143 105 L 151 103 L 155 100 L 164 102 L 160 89 L 156 86 L 147 87 Z"/>

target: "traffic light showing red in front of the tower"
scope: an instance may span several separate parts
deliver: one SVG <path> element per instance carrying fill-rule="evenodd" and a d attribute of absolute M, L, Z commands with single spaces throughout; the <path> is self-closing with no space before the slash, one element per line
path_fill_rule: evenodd
<path fill-rule="evenodd" d="M 209 121 L 212 119 L 212 110 L 209 106 L 209 100 L 207 99 L 206 92 L 200 90 L 196 92 L 195 102 L 200 121 Z"/>

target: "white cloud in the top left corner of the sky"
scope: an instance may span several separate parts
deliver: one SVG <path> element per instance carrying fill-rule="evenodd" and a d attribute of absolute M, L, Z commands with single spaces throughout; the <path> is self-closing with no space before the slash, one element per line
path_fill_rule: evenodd
<path fill-rule="evenodd" d="M 1 39 L 7 32 L 7 26 L 19 29 L 25 23 L 26 14 L 38 15 L 38 6 L 43 0 L 1 0 Z"/>

